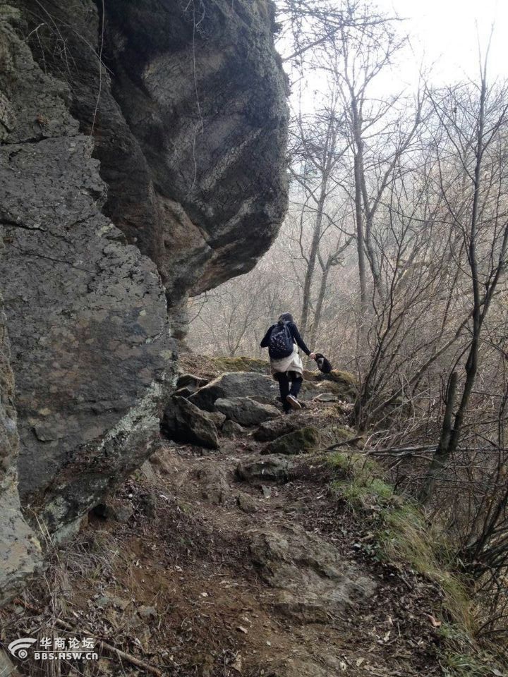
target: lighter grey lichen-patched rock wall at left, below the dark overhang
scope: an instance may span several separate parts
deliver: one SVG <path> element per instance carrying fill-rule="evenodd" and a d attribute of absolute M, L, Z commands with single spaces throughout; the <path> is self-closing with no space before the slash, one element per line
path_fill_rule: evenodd
<path fill-rule="evenodd" d="M 172 341 L 157 267 L 100 211 L 92 142 L 0 14 L 0 259 L 29 518 L 64 534 L 159 435 Z M 0 530 L 4 525 L 0 525 Z"/>

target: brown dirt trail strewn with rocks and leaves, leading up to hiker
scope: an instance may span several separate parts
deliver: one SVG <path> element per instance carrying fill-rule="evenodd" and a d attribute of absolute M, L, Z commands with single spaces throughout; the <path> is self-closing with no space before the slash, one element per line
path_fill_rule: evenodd
<path fill-rule="evenodd" d="M 175 415 L 171 404 L 164 420 L 180 441 L 161 440 L 73 542 L 48 541 L 44 578 L 0 611 L 3 642 L 90 635 L 106 643 L 99 660 L 59 661 L 58 672 L 24 661 L 20 674 L 442 674 L 430 621 L 440 613 L 440 590 L 409 567 L 377 561 L 368 515 L 330 489 L 326 453 L 305 451 L 309 431 L 319 432 L 320 446 L 337 431 L 348 434 L 349 405 L 317 384 L 304 393 L 306 408 L 285 417 L 261 396 L 265 422 L 243 427 L 234 419 L 239 412 L 246 420 L 245 395 L 235 389 L 272 383 L 253 372 L 228 378 L 217 399 L 229 400 L 218 405 L 229 418 L 195 406 Z M 181 393 L 174 401 L 215 409 L 210 386 L 197 387 L 207 379 L 192 380 L 181 386 L 193 391 L 190 399 Z M 253 405 L 250 415 L 259 411 Z M 193 416 L 201 427 L 210 417 L 213 428 L 200 429 Z M 186 425 L 205 442 L 184 443 Z M 288 435 L 302 427 L 307 433 L 287 453 Z M 281 444 L 284 430 L 293 432 Z"/>

